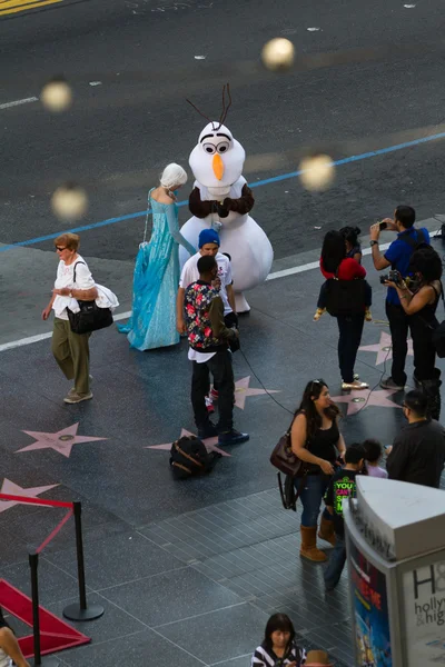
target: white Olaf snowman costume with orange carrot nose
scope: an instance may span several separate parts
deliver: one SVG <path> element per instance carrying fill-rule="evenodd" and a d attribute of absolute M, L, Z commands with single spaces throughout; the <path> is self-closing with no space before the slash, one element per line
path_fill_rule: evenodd
<path fill-rule="evenodd" d="M 189 197 L 192 217 L 181 227 L 196 248 L 202 229 L 219 233 L 220 252 L 231 257 L 238 312 L 250 310 L 243 291 L 266 279 L 274 259 L 269 239 L 249 216 L 255 199 L 241 176 L 245 158 L 243 146 L 226 126 L 212 121 L 204 128 L 189 158 L 196 179 Z M 181 266 L 188 259 L 182 247 L 179 259 Z"/>

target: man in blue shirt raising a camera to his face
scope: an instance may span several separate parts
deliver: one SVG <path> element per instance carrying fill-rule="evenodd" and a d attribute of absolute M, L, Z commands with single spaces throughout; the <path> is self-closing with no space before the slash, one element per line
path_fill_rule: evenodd
<path fill-rule="evenodd" d="M 374 267 L 377 271 L 383 271 L 388 267 L 393 271 L 406 278 L 409 275 L 409 261 L 414 250 L 422 243 L 429 243 L 428 230 L 423 227 L 416 229 L 414 222 L 416 212 L 411 206 L 398 206 L 394 211 L 394 220 L 385 218 L 370 227 L 370 248 L 373 253 Z M 397 232 L 397 238 L 393 241 L 385 255 L 382 255 L 378 248 L 378 239 L 383 229 L 389 229 Z M 387 278 L 383 280 L 387 282 Z M 389 282 L 394 283 L 394 280 Z M 393 340 L 393 365 L 390 376 L 383 378 L 380 387 L 383 389 L 404 389 L 406 384 L 405 361 L 408 352 L 408 327 L 409 316 L 402 306 L 399 293 L 395 285 L 390 285 L 386 296 L 386 317 L 389 321 L 389 330 Z"/>

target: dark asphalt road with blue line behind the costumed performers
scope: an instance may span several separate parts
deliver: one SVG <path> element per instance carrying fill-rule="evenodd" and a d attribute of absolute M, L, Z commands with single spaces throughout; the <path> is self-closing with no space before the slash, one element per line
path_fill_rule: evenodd
<path fill-rule="evenodd" d="M 296 170 L 309 151 L 340 159 L 444 131 L 444 26 L 443 0 L 412 9 L 403 0 L 62 0 L 0 13 L 0 243 L 67 229 L 49 198 L 68 180 L 90 197 L 81 225 L 142 210 L 162 167 L 187 166 L 206 122 L 185 98 L 219 117 L 225 81 L 227 125 L 246 149 L 251 183 Z M 259 53 L 279 36 L 293 40 L 298 59 L 273 74 Z M 69 111 L 1 108 L 38 97 L 61 72 L 75 91 Z M 305 192 L 297 179 L 259 187 L 254 217 L 284 258 L 319 247 L 326 228 L 365 229 L 399 202 L 419 218 L 443 213 L 444 146 L 344 165 L 323 193 Z M 130 267 L 142 228 L 134 219 L 83 232 L 82 251 Z M 0 253 L 3 286 L 9 252 Z"/>

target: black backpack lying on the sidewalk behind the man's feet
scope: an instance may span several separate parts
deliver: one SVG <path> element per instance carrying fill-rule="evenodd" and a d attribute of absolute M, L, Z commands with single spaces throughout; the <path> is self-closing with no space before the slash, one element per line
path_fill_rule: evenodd
<path fill-rule="evenodd" d="M 202 440 L 196 436 L 184 436 L 171 445 L 170 467 L 176 479 L 188 479 L 210 472 L 221 458 L 217 451 L 208 452 Z"/>

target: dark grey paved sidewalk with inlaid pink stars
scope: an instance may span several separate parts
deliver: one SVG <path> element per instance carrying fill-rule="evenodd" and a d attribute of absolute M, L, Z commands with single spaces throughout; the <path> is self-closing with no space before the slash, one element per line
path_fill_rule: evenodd
<path fill-rule="evenodd" d="M 385 290 L 368 257 L 364 265 L 373 315 L 384 320 Z M 61 665 L 248 667 L 275 611 L 290 615 L 304 646 L 352 665 L 347 574 L 325 597 L 323 566 L 299 558 L 300 508 L 296 516 L 280 507 L 269 455 L 310 379 L 323 377 L 337 398 L 347 444 L 390 442 L 404 424 L 403 395 L 378 387 L 390 350 L 387 326 L 376 323 L 365 325 L 368 349 L 356 366 L 376 389 L 367 402 L 367 392 L 342 395 L 336 321 L 312 320 L 320 282 L 309 270 L 248 295 L 234 369 L 236 426 L 250 440 L 227 448 L 206 478 L 175 481 L 168 466 L 171 441 L 181 429 L 195 432 L 185 340 L 138 352 L 113 328 L 93 335 L 95 398 L 79 406 L 62 402 L 69 384 L 48 340 L 1 352 L 2 477 L 23 489 L 57 485 L 40 497 L 82 501 L 89 601 L 106 608 L 99 620 L 76 624 L 93 640 L 60 654 Z M 73 436 L 60 432 L 77 424 Z M 24 593 L 27 548 L 44 539 L 58 512 L 0 502 L 1 576 Z M 68 524 L 41 558 L 41 604 L 57 615 L 76 598 L 73 547 Z"/>

